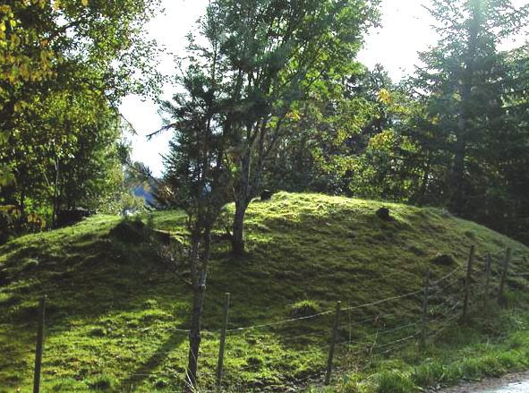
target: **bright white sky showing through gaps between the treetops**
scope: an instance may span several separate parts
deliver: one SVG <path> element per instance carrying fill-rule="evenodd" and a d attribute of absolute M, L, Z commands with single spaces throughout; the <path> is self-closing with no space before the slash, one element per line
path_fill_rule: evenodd
<path fill-rule="evenodd" d="M 367 33 L 358 59 L 370 68 L 382 64 L 394 81 L 413 73 L 414 65 L 419 62 L 417 53 L 437 41 L 436 33 L 431 30 L 433 21 L 422 7 L 427 1 L 382 0 L 381 28 Z M 515 1 L 520 5 L 527 2 L 529 0 Z M 158 15 L 147 26 L 149 36 L 166 47 L 167 55 L 159 65 L 161 73 L 175 73 L 174 56 L 171 53 L 183 56 L 185 36 L 193 29 L 206 4 L 208 0 L 163 0 L 165 13 Z M 164 98 L 170 98 L 174 89 L 166 86 Z M 171 132 L 165 132 L 150 141 L 145 138 L 146 134 L 162 126 L 158 107 L 149 100 L 129 96 L 124 98 L 120 110 L 137 132 L 136 136 L 129 138 L 132 141 L 132 159 L 143 162 L 154 175 L 161 175 L 161 155 L 167 151 Z"/>

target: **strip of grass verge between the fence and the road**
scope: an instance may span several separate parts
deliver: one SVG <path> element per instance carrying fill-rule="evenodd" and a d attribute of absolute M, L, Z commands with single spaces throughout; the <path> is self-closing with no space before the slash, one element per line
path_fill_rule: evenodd
<path fill-rule="evenodd" d="M 529 368 L 526 314 L 492 307 L 487 315 L 474 315 L 472 322 L 454 325 L 423 351 L 408 346 L 391 359 L 375 356 L 370 367 L 346 373 L 334 388 L 311 392 L 411 393 L 421 387 L 499 377 Z M 485 331 L 483 327 L 490 323 L 494 331 Z"/>

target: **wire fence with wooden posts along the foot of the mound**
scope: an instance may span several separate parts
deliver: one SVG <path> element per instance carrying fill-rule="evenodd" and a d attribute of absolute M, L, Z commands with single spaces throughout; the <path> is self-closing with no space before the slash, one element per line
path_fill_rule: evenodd
<path fill-rule="evenodd" d="M 209 365 L 201 366 L 199 381 L 207 380 L 207 382 L 205 386 L 201 386 L 200 391 L 219 389 L 223 377 L 230 389 L 243 391 L 248 388 L 247 384 L 249 380 L 252 380 L 252 374 L 255 374 L 256 378 L 266 380 L 262 376 L 266 373 L 263 371 L 281 369 L 289 362 L 288 354 L 285 359 L 275 356 L 265 358 L 264 361 L 255 361 L 255 363 L 248 362 L 248 359 L 239 361 L 241 354 L 237 344 L 241 339 L 250 341 L 255 337 L 260 337 L 261 340 L 270 340 L 267 343 L 274 348 L 294 348 L 297 363 L 304 357 L 311 359 L 312 362 L 317 361 L 317 363 L 307 363 L 303 370 L 294 370 L 294 375 L 288 378 L 288 382 L 294 387 L 328 383 L 333 371 L 346 372 L 353 365 L 357 368 L 359 365 L 370 363 L 377 356 L 386 356 L 405 350 L 406 347 L 415 350 L 417 347 L 421 348 L 427 345 L 427 342 L 438 339 L 459 321 L 464 320 L 469 307 L 477 307 L 478 303 L 494 299 L 499 303 L 504 302 L 506 286 L 509 283 L 512 284 L 512 281 L 516 279 L 529 278 L 529 273 L 509 272 L 509 267 L 516 266 L 516 269 L 520 269 L 520 264 L 525 261 L 527 261 L 525 256 L 513 258 L 510 250 L 476 256 L 473 247 L 465 264 L 451 269 L 439 278 L 431 278 L 431 273 L 428 272 L 425 274 L 423 287 L 404 294 L 373 299 L 361 304 L 349 303 L 345 307 L 337 303 L 335 310 L 315 312 L 285 320 L 269 320 L 230 329 L 228 329 L 226 319 L 221 329 L 202 330 L 204 336 L 220 343 L 223 356 L 215 365 L 212 364 L 210 356 Z M 404 300 L 407 301 L 406 312 L 401 310 Z M 34 391 L 38 391 L 40 383 L 45 308 L 46 299 L 43 299 L 38 324 L 38 345 L 34 369 L 36 389 Z M 226 309 L 226 315 L 227 311 Z M 360 311 L 362 313 L 359 313 Z M 366 317 L 366 314 L 369 316 Z M 359 318 L 359 315 L 363 315 L 362 318 Z M 403 317 L 403 315 L 410 315 L 410 317 Z M 280 331 L 277 330 L 279 328 Z M 191 333 L 190 329 L 157 325 L 127 326 L 123 329 L 125 332 L 134 331 L 136 333 L 168 332 L 182 339 Z M 47 327 L 46 331 L 64 332 L 64 329 Z M 322 343 L 327 344 L 322 346 Z M 90 341 L 80 343 L 81 346 L 83 349 L 90 350 Z M 149 353 L 149 356 L 174 354 L 174 349 L 167 348 L 167 350 Z M 229 360 L 228 362 L 225 362 L 224 356 Z M 234 359 L 238 361 L 234 362 Z M 46 358 L 44 362 L 46 364 Z M 181 374 L 182 372 L 179 374 L 179 372 L 170 370 L 152 372 L 140 367 L 127 378 L 131 383 L 145 378 L 182 381 Z M 245 379 L 239 378 L 241 375 L 245 375 Z M 255 381 L 256 378 L 253 380 Z"/>

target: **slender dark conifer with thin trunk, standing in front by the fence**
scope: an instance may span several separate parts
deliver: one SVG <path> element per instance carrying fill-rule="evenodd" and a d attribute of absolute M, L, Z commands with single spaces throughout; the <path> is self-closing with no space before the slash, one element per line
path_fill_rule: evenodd
<path fill-rule="evenodd" d="M 230 176 L 226 165 L 226 133 L 222 102 L 222 79 L 218 78 L 219 26 L 213 21 L 216 10 L 209 7 L 201 21 L 206 44 L 191 40 L 189 66 L 178 78 L 184 92 L 162 108 L 170 119 L 166 129 L 174 130 L 170 152 L 165 158 L 166 173 L 161 188 L 173 206 L 187 214 L 188 261 L 191 270 L 192 315 L 186 389 L 198 384 L 201 346 L 201 316 L 211 255 L 211 231 L 221 209 L 229 201 Z"/>

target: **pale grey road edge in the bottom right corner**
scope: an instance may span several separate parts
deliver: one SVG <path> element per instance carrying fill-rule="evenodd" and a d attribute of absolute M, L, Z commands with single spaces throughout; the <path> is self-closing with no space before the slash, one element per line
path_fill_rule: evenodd
<path fill-rule="evenodd" d="M 529 392 L 529 372 L 508 374 L 498 379 L 465 383 L 456 388 L 430 391 L 431 393 L 527 393 Z"/>

